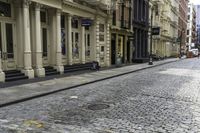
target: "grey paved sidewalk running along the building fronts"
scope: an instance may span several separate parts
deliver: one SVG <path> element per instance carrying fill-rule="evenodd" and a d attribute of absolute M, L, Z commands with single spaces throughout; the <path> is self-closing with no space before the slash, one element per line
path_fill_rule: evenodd
<path fill-rule="evenodd" d="M 148 63 L 130 65 L 109 70 L 85 73 L 80 75 L 68 76 L 59 79 L 51 79 L 36 83 L 29 83 L 7 88 L 0 88 L 0 107 L 12 105 L 25 100 L 45 96 L 55 92 L 71 89 L 81 85 L 98 82 L 101 80 L 125 75 L 128 73 L 152 68 L 155 66 L 176 62 L 180 59 L 166 59 L 154 62 L 154 65 L 149 66 Z"/>

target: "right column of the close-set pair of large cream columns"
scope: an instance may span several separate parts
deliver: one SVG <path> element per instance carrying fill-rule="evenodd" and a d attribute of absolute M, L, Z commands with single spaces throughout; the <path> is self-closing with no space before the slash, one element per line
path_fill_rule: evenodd
<path fill-rule="evenodd" d="M 40 5 L 35 5 L 35 74 L 38 77 L 45 76 L 45 70 L 42 63 L 42 43 L 41 43 L 41 23 L 40 23 Z"/>

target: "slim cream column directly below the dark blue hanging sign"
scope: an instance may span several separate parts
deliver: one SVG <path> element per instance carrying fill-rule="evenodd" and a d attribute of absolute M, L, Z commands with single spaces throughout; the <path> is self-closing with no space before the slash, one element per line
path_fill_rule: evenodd
<path fill-rule="evenodd" d="M 81 63 L 85 64 L 85 27 L 81 27 Z"/>

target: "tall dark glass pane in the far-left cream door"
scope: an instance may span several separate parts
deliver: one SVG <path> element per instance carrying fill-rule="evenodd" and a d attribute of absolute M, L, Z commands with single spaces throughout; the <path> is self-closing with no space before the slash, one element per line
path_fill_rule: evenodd
<path fill-rule="evenodd" d="M 6 24 L 6 43 L 7 43 L 7 56 L 8 56 L 8 58 L 13 58 L 14 52 L 13 52 L 13 28 L 12 28 L 12 24 Z"/>

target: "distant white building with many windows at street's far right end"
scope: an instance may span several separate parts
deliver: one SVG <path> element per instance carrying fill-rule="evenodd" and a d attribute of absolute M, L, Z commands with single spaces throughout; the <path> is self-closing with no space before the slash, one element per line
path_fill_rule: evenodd
<path fill-rule="evenodd" d="M 196 9 L 192 3 L 188 4 L 188 23 L 186 44 L 188 50 L 195 47 L 196 43 Z"/>

